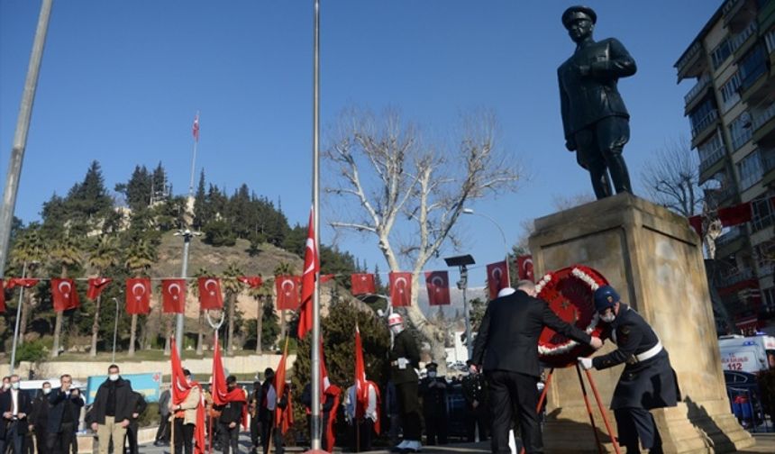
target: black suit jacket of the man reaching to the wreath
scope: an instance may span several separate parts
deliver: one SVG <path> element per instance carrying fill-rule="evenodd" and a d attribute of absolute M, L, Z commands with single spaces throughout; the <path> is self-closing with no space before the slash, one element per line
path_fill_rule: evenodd
<path fill-rule="evenodd" d="M 539 377 L 538 337 L 544 327 L 588 344 L 589 334 L 562 321 L 549 304 L 517 290 L 488 304 L 474 341 L 473 362 L 484 370 Z"/>

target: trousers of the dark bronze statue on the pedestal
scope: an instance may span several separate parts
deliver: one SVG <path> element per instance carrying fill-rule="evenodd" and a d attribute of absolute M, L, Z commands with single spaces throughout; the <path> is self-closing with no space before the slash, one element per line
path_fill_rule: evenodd
<path fill-rule="evenodd" d="M 625 117 L 603 118 L 576 132 L 574 139 L 577 146 L 576 158 L 579 164 L 588 169 L 597 199 L 613 195 L 611 180 L 614 181 L 616 194 L 633 192 L 625 159 L 622 157 L 625 143 L 630 140 L 630 123 Z"/>

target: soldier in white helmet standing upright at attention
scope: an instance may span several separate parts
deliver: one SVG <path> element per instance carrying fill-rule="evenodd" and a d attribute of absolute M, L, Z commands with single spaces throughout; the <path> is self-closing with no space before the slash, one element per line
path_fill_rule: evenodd
<path fill-rule="evenodd" d="M 401 452 L 418 452 L 422 445 L 418 377 L 415 368 L 420 368 L 420 350 L 412 334 L 404 330 L 404 318 L 399 313 L 392 313 L 387 317 L 387 326 L 394 336 L 389 355 L 390 378 L 396 384 L 398 413 L 404 429 L 404 440 L 396 449 Z"/>

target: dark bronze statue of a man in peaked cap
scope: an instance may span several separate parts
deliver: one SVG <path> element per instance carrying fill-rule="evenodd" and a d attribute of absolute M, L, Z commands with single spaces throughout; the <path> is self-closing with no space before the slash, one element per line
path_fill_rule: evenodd
<path fill-rule="evenodd" d="M 576 51 L 557 69 L 560 80 L 565 147 L 576 151 L 579 166 L 589 171 L 597 199 L 633 192 L 622 150 L 630 140 L 630 114 L 616 89 L 619 77 L 635 74 L 635 60 L 614 38 L 594 41 L 597 14 L 571 6 L 562 24 Z M 610 172 L 610 179 L 608 173 Z"/>

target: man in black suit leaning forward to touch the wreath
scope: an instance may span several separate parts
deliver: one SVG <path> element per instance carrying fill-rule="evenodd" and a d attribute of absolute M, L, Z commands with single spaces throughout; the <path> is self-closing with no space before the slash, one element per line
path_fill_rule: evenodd
<path fill-rule="evenodd" d="M 509 292 L 511 290 L 511 292 Z M 516 291 L 501 290 L 490 301 L 474 341 L 474 370 L 483 369 L 489 384 L 494 453 L 511 452 L 508 431 L 516 409 L 522 442 L 528 454 L 543 452 L 538 404 L 538 337 L 549 327 L 565 337 L 599 349 L 603 343 L 563 322 L 549 304 L 535 298 L 531 281 L 520 281 Z"/>

